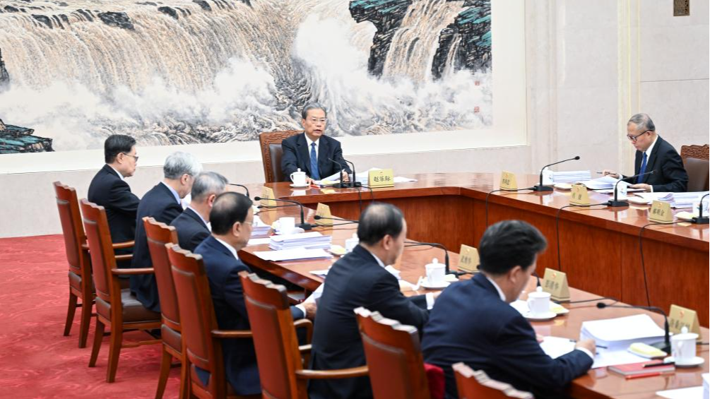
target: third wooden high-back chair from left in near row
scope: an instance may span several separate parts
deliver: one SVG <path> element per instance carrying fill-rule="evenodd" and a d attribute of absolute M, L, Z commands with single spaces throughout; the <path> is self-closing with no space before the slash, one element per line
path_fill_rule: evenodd
<path fill-rule="evenodd" d="M 190 374 L 187 372 L 187 365 L 183 359 L 178 296 L 175 295 L 173 270 L 170 269 L 168 248 L 165 246 L 165 244 L 178 244 L 178 231 L 173 226 L 156 222 L 152 217 L 144 217 L 143 226 L 146 228 L 148 251 L 151 252 L 151 261 L 153 261 L 153 270 L 155 270 L 155 282 L 158 284 L 160 315 L 163 323 L 160 327 L 160 338 L 163 339 L 163 356 L 160 359 L 160 377 L 158 378 L 158 390 L 155 393 L 155 398 L 163 398 L 173 356 L 182 363 L 180 398 L 187 398 Z"/>

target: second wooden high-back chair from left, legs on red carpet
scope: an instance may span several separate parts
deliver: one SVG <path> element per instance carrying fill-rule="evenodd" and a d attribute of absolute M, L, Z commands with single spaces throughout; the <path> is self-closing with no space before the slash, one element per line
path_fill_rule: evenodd
<path fill-rule="evenodd" d="M 94 334 L 94 346 L 91 359 L 89 359 L 89 367 L 96 366 L 101 341 L 104 338 L 104 329 L 108 326 L 111 329 L 111 343 L 106 381 L 112 383 L 116 379 L 121 348 L 160 344 L 160 339 L 123 344 L 123 334 L 126 330 L 160 328 L 160 313 L 143 307 L 138 298 L 131 294 L 129 288 L 121 290 L 119 275 L 153 273 L 153 268 L 117 268 L 106 210 L 87 200 L 81 200 L 80 204 L 84 219 L 84 231 L 86 231 L 89 242 L 94 287 L 96 288 L 96 334 Z"/>

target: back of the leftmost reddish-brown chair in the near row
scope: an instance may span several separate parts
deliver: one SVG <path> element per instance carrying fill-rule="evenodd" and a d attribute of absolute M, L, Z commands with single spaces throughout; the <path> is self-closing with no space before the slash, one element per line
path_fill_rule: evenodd
<path fill-rule="evenodd" d="M 69 270 L 77 275 L 82 275 L 82 266 L 88 266 L 86 251 L 82 250 L 82 244 L 87 240 L 82 226 L 82 215 L 79 212 L 79 200 L 77 192 L 72 187 L 54 182 L 54 192 L 57 197 L 57 208 L 59 209 L 59 219 L 62 223 L 62 233 L 64 235 L 64 248 L 67 252 L 67 262 Z M 88 275 L 87 275 L 88 277 Z"/>

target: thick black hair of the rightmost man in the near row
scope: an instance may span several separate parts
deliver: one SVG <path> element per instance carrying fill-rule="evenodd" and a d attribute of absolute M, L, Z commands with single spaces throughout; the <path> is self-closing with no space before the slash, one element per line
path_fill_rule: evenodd
<path fill-rule="evenodd" d="M 479 269 L 491 275 L 503 275 L 515 266 L 527 270 L 545 248 L 547 240 L 535 226 L 504 220 L 488 227 L 481 237 Z"/>

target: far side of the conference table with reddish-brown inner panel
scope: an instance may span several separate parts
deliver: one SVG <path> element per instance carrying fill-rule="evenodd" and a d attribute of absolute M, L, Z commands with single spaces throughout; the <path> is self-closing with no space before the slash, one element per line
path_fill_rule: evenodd
<path fill-rule="evenodd" d="M 643 265 L 640 233 L 649 223 L 648 206 L 569 207 L 569 191 L 495 192 L 500 176 L 492 173 L 428 173 L 408 175 L 416 182 L 368 190 L 310 188 L 296 190 L 288 183 L 270 183 L 275 197 L 297 200 L 315 209 L 328 204 L 332 214 L 357 219 L 361 207 L 374 198 L 403 210 L 408 238 L 437 242 L 459 251 L 461 244 L 478 246 L 488 224 L 522 219 L 547 237 L 547 251 L 537 262 L 567 273 L 570 285 L 634 305 L 671 304 L 697 310 L 700 324 L 710 326 L 710 227 L 689 223 L 653 225 L 643 229 Z M 532 187 L 537 175 L 518 175 L 518 187 Z M 259 192 L 261 187 L 250 187 Z M 609 195 L 589 193 L 592 204 Z M 487 214 L 487 215 L 486 215 Z M 486 223 L 486 219 L 487 222 Z M 559 224 L 559 261 L 557 226 Z M 643 271 L 645 266 L 645 273 Z M 647 302 L 644 274 L 648 276 Z M 540 274 L 542 275 L 542 274 Z"/>

